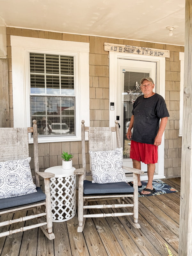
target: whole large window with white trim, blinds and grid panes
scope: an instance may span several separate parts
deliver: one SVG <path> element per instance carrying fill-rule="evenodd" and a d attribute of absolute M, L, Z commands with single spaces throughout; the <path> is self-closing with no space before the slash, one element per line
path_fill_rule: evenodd
<path fill-rule="evenodd" d="M 14 127 L 39 142 L 81 140 L 89 125 L 89 44 L 11 36 Z M 29 140 L 29 143 L 32 140 Z"/>

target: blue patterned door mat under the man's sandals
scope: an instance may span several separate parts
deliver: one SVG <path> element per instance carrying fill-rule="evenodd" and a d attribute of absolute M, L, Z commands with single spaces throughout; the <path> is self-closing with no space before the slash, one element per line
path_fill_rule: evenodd
<path fill-rule="evenodd" d="M 138 188 L 138 191 L 142 191 L 143 188 L 146 188 L 148 181 L 141 181 L 142 188 Z M 155 188 L 155 192 L 151 194 L 150 196 L 157 196 L 157 195 L 162 195 L 162 194 L 168 194 L 168 193 L 173 193 L 173 192 L 178 192 L 177 189 L 170 187 L 168 184 L 166 184 L 162 180 L 153 180 L 153 188 Z M 139 196 L 142 196 L 139 194 Z"/>

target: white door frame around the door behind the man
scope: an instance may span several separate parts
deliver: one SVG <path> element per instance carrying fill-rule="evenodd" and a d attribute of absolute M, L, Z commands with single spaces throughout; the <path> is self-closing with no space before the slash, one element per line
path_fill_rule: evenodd
<path fill-rule="evenodd" d="M 165 97 L 165 58 L 155 56 L 142 56 L 131 53 L 118 53 L 109 52 L 109 105 L 110 102 L 114 102 L 114 110 L 109 108 L 109 126 L 115 125 L 116 120 L 116 95 L 117 95 L 117 59 L 129 59 L 129 60 L 145 60 L 156 61 L 156 92 Z M 164 176 L 164 135 L 162 137 L 162 143 L 158 147 L 158 173 L 154 175 L 154 179 L 162 179 Z M 132 178 L 130 178 L 132 180 Z M 146 180 L 146 176 L 141 176 L 141 180 Z M 128 178 L 129 181 L 129 178 Z"/>

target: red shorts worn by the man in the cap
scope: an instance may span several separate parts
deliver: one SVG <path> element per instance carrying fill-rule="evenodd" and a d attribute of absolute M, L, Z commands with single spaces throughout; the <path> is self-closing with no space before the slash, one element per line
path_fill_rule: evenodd
<path fill-rule="evenodd" d="M 145 164 L 155 164 L 158 160 L 157 146 L 132 140 L 130 158 Z"/>

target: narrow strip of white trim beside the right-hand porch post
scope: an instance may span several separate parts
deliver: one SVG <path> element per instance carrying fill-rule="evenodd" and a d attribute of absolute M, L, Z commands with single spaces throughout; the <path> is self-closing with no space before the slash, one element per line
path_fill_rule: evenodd
<path fill-rule="evenodd" d="M 179 137 L 183 132 L 183 88 L 184 88 L 184 52 L 179 53 L 180 60 L 180 120 L 179 120 Z"/>

